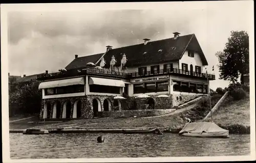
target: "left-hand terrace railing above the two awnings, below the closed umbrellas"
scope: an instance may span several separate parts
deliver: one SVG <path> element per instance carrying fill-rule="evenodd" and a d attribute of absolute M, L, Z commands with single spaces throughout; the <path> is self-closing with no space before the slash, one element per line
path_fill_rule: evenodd
<path fill-rule="evenodd" d="M 123 72 L 117 72 L 117 71 L 108 70 L 108 69 L 84 68 L 80 70 L 68 70 L 63 72 L 40 74 L 40 75 L 37 75 L 37 79 L 49 80 L 49 79 L 65 78 L 65 77 L 72 77 L 72 76 L 81 76 L 81 75 L 87 75 L 87 74 L 127 78 L 127 74 Z"/>

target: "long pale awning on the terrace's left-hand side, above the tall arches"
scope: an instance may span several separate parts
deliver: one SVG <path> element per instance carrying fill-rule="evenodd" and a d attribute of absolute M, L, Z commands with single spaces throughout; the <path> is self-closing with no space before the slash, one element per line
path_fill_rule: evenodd
<path fill-rule="evenodd" d="M 72 86 L 72 85 L 84 85 L 83 77 L 43 82 L 43 83 L 40 83 L 38 88 L 45 89 L 45 88 L 55 88 L 55 87 L 64 87 L 64 86 Z"/>

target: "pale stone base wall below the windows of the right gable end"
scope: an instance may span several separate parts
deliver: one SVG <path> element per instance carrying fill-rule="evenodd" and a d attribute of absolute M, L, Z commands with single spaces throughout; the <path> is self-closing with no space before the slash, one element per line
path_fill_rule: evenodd
<path fill-rule="evenodd" d="M 173 95 L 173 106 L 179 106 L 183 103 L 186 103 L 190 100 L 193 100 L 195 98 L 199 97 L 199 95 L 196 94 L 174 94 Z"/>

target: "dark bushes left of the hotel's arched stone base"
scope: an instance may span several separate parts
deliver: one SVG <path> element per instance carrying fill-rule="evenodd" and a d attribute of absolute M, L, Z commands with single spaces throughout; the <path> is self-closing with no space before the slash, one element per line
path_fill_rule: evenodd
<path fill-rule="evenodd" d="M 9 89 L 9 116 L 38 114 L 41 107 L 41 91 L 39 82 L 19 84 Z M 12 86 L 11 86 L 12 87 Z M 10 87 L 10 88 L 11 88 Z"/>

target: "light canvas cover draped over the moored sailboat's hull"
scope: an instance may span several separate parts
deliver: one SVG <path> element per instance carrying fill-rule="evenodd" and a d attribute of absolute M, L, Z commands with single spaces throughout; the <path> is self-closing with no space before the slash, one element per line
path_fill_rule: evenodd
<path fill-rule="evenodd" d="M 198 123 L 187 123 L 179 134 L 182 133 L 203 133 L 207 132 L 209 134 L 222 134 L 228 132 L 228 130 L 219 127 L 214 122 L 198 122 Z"/>

